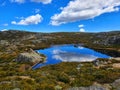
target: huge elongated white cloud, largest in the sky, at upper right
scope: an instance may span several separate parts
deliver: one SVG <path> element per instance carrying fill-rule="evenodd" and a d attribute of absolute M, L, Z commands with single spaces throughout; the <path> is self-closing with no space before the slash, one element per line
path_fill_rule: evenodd
<path fill-rule="evenodd" d="M 92 19 L 104 13 L 118 11 L 120 0 L 73 0 L 62 8 L 61 13 L 51 17 L 51 25 L 61 25 Z"/>

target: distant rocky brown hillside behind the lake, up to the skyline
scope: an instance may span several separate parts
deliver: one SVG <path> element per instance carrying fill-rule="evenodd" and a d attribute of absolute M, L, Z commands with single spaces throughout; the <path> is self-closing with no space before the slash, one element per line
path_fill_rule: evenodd
<path fill-rule="evenodd" d="M 120 31 L 101 33 L 33 33 L 26 31 L 9 30 L 0 32 L 0 55 L 24 51 L 26 48 L 40 49 L 53 44 L 82 43 L 84 46 L 98 51 L 120 52 Z M 115 54 L 110 54 L 115 56 Z"/>

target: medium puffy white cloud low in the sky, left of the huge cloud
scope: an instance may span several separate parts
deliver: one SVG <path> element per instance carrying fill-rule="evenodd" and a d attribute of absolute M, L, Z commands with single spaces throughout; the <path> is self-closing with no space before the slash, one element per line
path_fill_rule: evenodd
<path fill-rule="evenodd" d="M 19 22 L 12 21 L 11 24 L 15 25 L 31 25 L 38 24 L 42 21 L 42 16 L 40 14 L 32 15 L 27 18 L 21 19 Z"/>

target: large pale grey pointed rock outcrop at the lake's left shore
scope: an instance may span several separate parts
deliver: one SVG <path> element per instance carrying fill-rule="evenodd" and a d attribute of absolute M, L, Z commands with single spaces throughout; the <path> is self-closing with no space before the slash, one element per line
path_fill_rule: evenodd
<path fill-rule="evenodd" d="M 35 62 L 43 62 L 44 58 L 45 57 L 41 56 L 39 53 L 30 49 L 28 52 L 20 53 L 18 57 L 15 59 L 15 61 L 22 63 L 24 62 L 35 63 Z"/>

